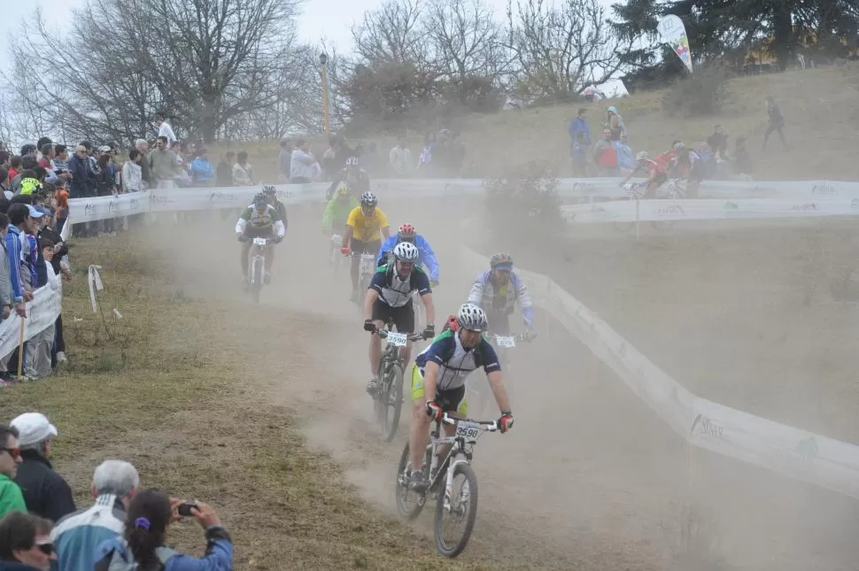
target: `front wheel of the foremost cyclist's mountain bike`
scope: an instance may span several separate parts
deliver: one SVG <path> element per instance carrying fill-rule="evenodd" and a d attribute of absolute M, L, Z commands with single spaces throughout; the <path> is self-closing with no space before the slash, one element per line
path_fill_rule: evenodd
<path fill-rule="evenodd" d="M 453 467 L 451 490 L 436 503 L 436 549 L 445 557 L 456 557 L 471 538 L 477 519 L 477 476 L 465 463 Z M 453 529 L 452 529 L 453 528 Z"/>

